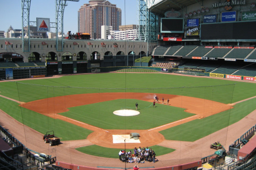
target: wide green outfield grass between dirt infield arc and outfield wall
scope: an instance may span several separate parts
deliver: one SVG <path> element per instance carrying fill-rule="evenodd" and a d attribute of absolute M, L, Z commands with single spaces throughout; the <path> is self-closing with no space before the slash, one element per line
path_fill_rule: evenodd
<path fill-rule="evenodd" d="M 204 88 L 204 86 L 212 85 L 222 86 Z M 191 89 L 191 87 L 197 88 Z M 243 81 L 150 73 L 100 73 L 40 80 L 32 79 L 17 83 L 0 82 L 1 95 L 22 102 L 69 94 L 102 93 L 104 91 L 123 92 L 124 90 L 126 92 L 139 92 L 142 89 L 144 89 L 143 93 L 176 94 L 230 103 L 254 96 L 256 86 L 254 83 Z M 213 92 L 214 96 L 208 95 L 208 92 L 204 92 L 205 90 L 208 90 L 209 93 Z"/>

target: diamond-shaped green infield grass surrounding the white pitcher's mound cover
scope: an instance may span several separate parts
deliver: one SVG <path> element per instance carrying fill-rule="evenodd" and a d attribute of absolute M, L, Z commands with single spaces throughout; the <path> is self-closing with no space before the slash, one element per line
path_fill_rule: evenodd
<path fill-rule="evenodd" d="M 139 115 L 118 116 L 113 114 L 113 111 L 115 110 L 136 110 L 136 102 L 139 103 Z M 187 113 L 184 109 L 174 106 L 156 104 L 156 107 L 153 107 L 152 102 L 139 101 L 135 99 L 119 99 L 72 107 L 69 108 L 69 111 L 61 113 L 60 115 L 103 129 L 150 129 L 184 119 L 195 114 Z"/>

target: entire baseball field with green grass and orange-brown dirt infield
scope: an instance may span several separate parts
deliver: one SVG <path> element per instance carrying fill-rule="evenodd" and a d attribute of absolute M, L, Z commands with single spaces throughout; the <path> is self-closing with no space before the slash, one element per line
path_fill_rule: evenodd
<path fill-rule="evenodd" d="M 153 107 L 156 96 L 159 102 Z M 167 165 L 162 160 L 182 163 L 212 154 L 214 150 L 203 148 L 215 141 L 228 149 L 233 139 L 243 134 L 228 138 L 228 127 L 256 110 L 255 96 L 253 82 L 162 73 L 98 73 L 0 82 L 1 114 L 8 114 L 23 126 L 19 132 L 23 138 L 18 140 L 30 149 L 56 155 L 61 161 L 80 165 L 94 162 L 97 166 L 108 166 L 109 158 L 119 161 L 121 149 L 139 146 L 156 152 L 156 166 Z M 118 110 L 126 111 L 115 115 Z M 139 114 L 130 115 L 129 110 Z M 255 120 L 252 122 L 255 124 Z M 0 123 L 16 126 L 5 119 Z M 62 144 L 49 147 L 41 138 L 30 137 L 25 126 L 42 137 L 53 130 Z M 213 135 L 225 128 L 224 137 Z M 127 138 L 130 133 L 139 133 L 139 140 Z M 191 159 L 182 157 L 194 152 L 184 149 L 193 143 L 199 154 Z M 73 152 L 87 159 L 74 160 Z M 172 156 L 175 152 L 179 152 L 178 157 Z"/>

